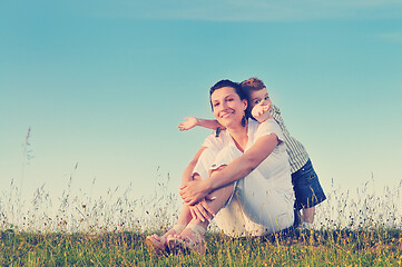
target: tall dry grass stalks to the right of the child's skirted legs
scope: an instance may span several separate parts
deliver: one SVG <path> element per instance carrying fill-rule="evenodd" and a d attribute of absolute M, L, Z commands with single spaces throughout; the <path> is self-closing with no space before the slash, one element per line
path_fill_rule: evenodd
<path fill-rule="evenodd" d="M 354 190 L 340 186 L 327 191 L 327 199 L 316 208 L 317 229 L 402 228 L 402 179 L 375 191 L 374 177 Z"/>

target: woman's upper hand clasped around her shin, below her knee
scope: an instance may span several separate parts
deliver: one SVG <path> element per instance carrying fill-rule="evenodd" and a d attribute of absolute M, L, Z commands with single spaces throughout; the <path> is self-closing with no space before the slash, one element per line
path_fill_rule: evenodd
<path fill-rule="evenodd" d="M 206 180 L 192 180 L 180 188 L 182 199 L 189 206 L 200 201 L 209 194 Z"/>

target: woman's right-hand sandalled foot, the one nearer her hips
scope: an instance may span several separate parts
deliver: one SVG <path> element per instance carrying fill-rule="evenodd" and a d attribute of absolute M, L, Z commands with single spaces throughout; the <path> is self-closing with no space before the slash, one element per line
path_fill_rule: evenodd
<path fill-rule="evenodd" d="M 179 253 L 190 254 L 192 251 L 195 251 L 197 254 L 205 254 L 206 244 L 203 237 L 206 230 L 204 229 L 204 227 L 194 224 L 189 224 L 187 227 L 189 227 L 194 231 L 193 236 L 195 236 L 196 240 L 193 240 L 189 237 L 179 238 L 175 236 L 168 236 L 167 246 L 170 253 L 175 255 Z"/>

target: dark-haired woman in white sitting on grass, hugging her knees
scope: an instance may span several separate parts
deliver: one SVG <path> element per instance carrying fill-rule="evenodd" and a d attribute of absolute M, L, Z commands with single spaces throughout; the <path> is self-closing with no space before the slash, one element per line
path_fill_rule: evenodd
<path fill-rule="evenodd" d="M 226 128 L 208 137 L 197 166 L 188 167 L 180 188 L 185 204 L 173 229 L 147 237 L 147 245 L 165 251 L 205 253 L 204 235 L 212 217 L 231 236 L 262 236 L 294 222 L 294 194 L 283 135 L 269 118 L 258 125 L 247 120 L 247 100 L 241 86 L 229 80 L 209 91 L 214 116 Z M 193 172 L 193 176 L 188 176 Z"/>

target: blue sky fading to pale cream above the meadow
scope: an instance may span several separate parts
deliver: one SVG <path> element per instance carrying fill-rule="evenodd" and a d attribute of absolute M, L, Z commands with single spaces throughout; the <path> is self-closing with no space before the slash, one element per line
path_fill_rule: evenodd
<path fill-rule="evenodd" d="M 174 190 L 210 132 L 177 125 L 256 76 L 324 189 L 393 186 L 401 70 L 401 1 L 1 1 L 0 182 L 143 196 L 169 174 Z"/>

